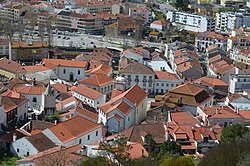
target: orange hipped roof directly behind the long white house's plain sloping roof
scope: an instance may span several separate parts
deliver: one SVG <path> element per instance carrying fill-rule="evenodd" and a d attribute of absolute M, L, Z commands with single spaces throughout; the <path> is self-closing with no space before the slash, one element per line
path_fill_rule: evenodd
<path fill-rule="evenodd" d="M 93 75 L 91 77 L 79 80 L 81 84 L 93 85 L 93 86 L 103 86 L 106 84 L 113 83 L 114 79 L 103 74 Z"/>

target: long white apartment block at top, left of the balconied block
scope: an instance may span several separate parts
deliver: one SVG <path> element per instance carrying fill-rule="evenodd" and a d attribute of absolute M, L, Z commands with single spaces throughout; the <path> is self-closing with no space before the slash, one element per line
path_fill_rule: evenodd
<path fill-rule="evenodd" d="M 212 17 L 191 13 L 168 11 L 167 20 L 180 29 L 192 32 L 213 31 L 215 23 Z"/>

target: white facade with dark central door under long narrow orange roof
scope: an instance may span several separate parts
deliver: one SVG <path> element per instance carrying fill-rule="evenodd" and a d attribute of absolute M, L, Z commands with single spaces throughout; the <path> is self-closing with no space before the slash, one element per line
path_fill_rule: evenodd
<path fill-rule="evenodd" d="M 85 68 L 58 66 L 56 74 L 60 79 L 66 81 L 82 80 L 85 78 Z"/>

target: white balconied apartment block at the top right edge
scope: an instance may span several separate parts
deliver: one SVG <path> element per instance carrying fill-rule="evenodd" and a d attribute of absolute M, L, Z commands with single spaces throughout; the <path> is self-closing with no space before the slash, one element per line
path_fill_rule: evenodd
<path fill-rule="evenodd" d="M 250 27 L 249 13 L 216 13 L 216 31 L 228 34 L 233 29 Z"/>

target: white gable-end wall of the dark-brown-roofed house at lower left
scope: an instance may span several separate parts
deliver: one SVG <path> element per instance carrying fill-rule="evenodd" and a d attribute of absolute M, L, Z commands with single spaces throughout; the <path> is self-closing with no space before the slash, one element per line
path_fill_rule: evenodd
<path fill-rule="evenodd" d="M 24 158 L 28 154 L 31 156 L 39 152 L 25 137 L 13 142 L 10 145 L 10 151 L 21 158 Z"/>

